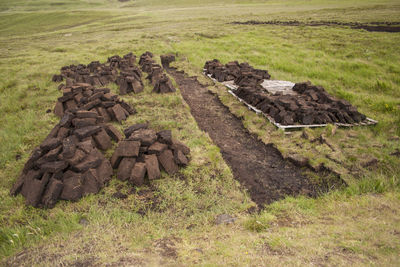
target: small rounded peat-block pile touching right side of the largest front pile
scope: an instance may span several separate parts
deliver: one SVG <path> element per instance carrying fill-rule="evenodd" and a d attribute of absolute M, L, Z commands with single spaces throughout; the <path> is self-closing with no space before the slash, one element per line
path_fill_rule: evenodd
<path fill-rule="evenodd" d="M 141 186 L 160 178 L 160 170 L 174 174 L 189 162 L 190 149 L 172 138 L 170 130 L 156 132 L 147 124 L 134 124 L 124 130 L 126 139 L 118 143 L 111 157 L 117 178 Z"/>

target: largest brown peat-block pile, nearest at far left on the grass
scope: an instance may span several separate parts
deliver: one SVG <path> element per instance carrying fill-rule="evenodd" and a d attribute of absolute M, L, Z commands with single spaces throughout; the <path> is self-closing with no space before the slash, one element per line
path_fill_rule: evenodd
<path fill-rule="evenodd" d="M 67 111 L 33 150 L 11 195 L 21 193 L 27 205 L 51 208 L 58 199 L 76 201 L 99 192 L 113 174 L 99 149 L 111 148 L 111 138 L 118 141 L 121 136 L 102 122 L 94 111 Z"/>

